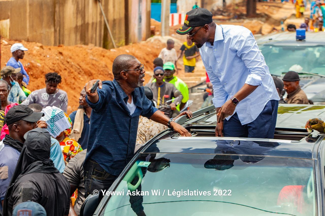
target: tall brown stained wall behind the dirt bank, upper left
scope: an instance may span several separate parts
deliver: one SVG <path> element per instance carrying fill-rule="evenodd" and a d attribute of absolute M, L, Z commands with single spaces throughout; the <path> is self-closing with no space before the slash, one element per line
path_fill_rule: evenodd
<path fill-rule="evenodd" d="M 101 0 L 115 43 L 150 35 L 150 0 L 142 0 L 142 38 L 138 39 L 139 0 Z M 131 13 L 125 13 L 125 4 Z M 131 15 L 132 14 L 132 18 Z M 97 0 L 0 0 L 0 20 L 9 19 L 9 38 L 45 45 L 95 44 L 112 48 Z M 126 27 L 126 20 L 130 25 Z M 132 36 L 126 35 L 126 28 Z"/>

